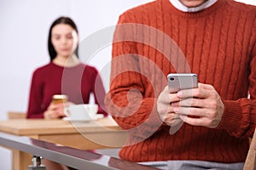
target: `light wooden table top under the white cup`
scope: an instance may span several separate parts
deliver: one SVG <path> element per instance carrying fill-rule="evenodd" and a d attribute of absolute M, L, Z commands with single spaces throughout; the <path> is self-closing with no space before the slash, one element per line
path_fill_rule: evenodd
<path fill-rule="evenodd" d="M 13 119 L 0 121 L 0 132 L 15 135 L 51 134 L 51 133 L 86 133 L 119 131 L 120 127 L 112 118 L 102 118 L 93 122 L 69 122 L 45 119 Z"/>

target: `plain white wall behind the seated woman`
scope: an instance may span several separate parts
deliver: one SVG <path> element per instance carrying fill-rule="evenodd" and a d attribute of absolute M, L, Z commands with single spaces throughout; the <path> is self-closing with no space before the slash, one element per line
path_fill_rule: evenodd
<path fill-rule="evenodd" d="M 83 43 L 97 31 L 113 27 L 126 9 L 151 1 L 0 0 L 0 121 L 7 119 L 7 111 L 26 111 L 32 72 L 49 62 L 47 38 L 53 20 L 71 17 Z M 237 1 L 256 5 L 255 0 Z M 101 71 L 110 59 L 111 44 L 97 51 L 89 64 Z M 108 91 L 109 71 L 101 75 Z M 11 170 L 10 150 L 0 148 L 0 160 L 0 169 Z"/>

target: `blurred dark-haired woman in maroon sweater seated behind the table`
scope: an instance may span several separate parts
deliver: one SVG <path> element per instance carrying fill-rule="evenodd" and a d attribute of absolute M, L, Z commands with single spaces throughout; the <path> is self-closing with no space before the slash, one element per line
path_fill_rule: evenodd
<path fill-rule="evenodd" d="M 79 31 L 68 17 L 60 17 L 49 29 L 50 62 L 34 71 L 27 118 L 55 119 L 65 116 L 64 104 L 53 104 L 52 96 L 65 94 L 67 105 L 88 104 L 90 93 L 99 105 L 98 113 L 107 116 L 103 100 L 105 89 L 96 68 L 79 61 Z"/>

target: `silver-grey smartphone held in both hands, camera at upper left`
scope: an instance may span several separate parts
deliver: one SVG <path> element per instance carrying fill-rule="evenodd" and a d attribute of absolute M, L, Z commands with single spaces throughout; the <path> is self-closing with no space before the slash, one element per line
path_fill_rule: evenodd
<path fill-rule="evenodd" d="M 167 81 L 170 93 L 198 87 L 197 75 L 195 73 L 171 73 L 168 74 Z"/>

